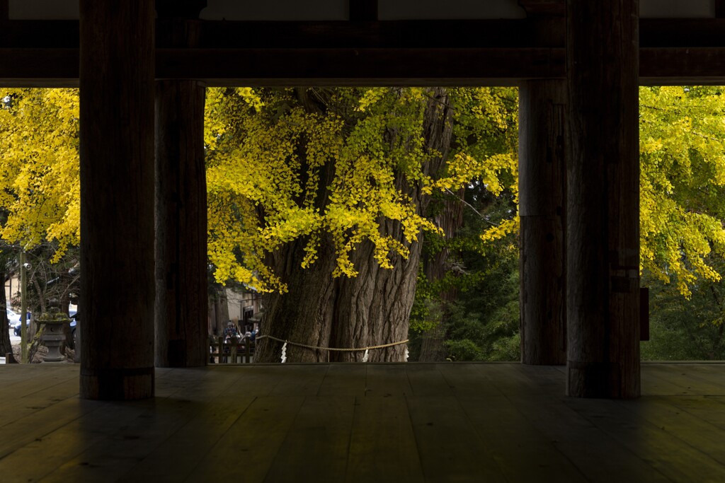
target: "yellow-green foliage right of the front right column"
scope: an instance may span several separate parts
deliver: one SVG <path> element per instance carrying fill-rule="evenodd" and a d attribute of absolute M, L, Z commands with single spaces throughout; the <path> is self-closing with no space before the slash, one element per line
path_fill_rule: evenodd
<path fill-rule="evenodd" d="M 689 298 L 725 256 L 725 98 L 719 87 L 640 88 L 641 266 Z"/>

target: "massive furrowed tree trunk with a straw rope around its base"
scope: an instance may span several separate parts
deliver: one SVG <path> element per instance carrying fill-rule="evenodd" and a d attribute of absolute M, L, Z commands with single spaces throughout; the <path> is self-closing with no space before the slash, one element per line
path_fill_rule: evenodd
<path fill-rule="evenodd" d="M 426 169 L 434 172 L 447 156 L 451 139 L 451 112 L 446 105 L 445 91 L 431 92 L 425 115 L 424 135 L 428 148 L 442 154 L 430 161 Z M 331 170 L 328 176 L 331 175 Z M 419 213 L 423 213 L 428 197 L 417 187 L 404 185 Z M 323 184 L 326 185 L 326 184 Z M 324 208 L 324 199 L 320 203 Z M 384 222 L 381 232 L 393 235 L 403 242 L 397 222 Z M 372 246 L 361 243 L 350 259 L 359 272 L 355 278 L 333 279 L 336 260 L 334 247 L 325 243 L 320 248 L 318 261 L 310 269 L 299 266 L 302 261 L 304 240 L 290 243 L 276 253 L 273 266 L 288 284 L 289 293 L 270 295 L 262 318 L 262 335 L 270 335 L 294 343 L 315 347 L 361 348 L 407 340 L 408 318 L 413 307 L 418 264 L 421 259 L 421 240 L 408 245 L 407 260 L 397 257 L 393 269 L 382 269 L 374 261 Z M 261 339 L 257 344 L 254 361 L 279 361 L 282 343 Z M 405 345 L 370 350 L 368 361 L 404 361 Z M 288 361 L 360 361 L 359 352 L 331 352 L 288 345 Z"/>

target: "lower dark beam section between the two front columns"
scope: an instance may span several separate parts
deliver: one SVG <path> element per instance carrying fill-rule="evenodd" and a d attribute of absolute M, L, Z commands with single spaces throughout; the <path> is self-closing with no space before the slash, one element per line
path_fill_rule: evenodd
<path fill-rule="evenodd" d="M 559 77 L 563 49 L 159 49 L 157 77 L 418 79 L 481 83 L 486 78 Z"/>

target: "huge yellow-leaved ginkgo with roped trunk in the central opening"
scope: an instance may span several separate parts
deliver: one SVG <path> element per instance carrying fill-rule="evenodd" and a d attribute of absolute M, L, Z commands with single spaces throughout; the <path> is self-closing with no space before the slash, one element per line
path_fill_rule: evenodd
<path fill-rule="evenodd" d="M 502 190 L 502 173 L 515 171 L 515 154 L 484 154 L 476 143 L 486 125 L 510 117 L 503 98 L 440 88 L 212 94 L 210 259 L 218 280 L 277 290 L 265 304 L 268 335 L 337 347 L 405 340 L 422 231 L 439 232 L 426 217 L 431 193 L 475 178 Z M 464 122 L 466 137 L 454 136 Z M 262 345 L 257 360 L 278 360 L 280 346 Z M 328 356 L 294 347 L 287 354 Z M 370 360 L 402 356 L 399 347 Z"/>

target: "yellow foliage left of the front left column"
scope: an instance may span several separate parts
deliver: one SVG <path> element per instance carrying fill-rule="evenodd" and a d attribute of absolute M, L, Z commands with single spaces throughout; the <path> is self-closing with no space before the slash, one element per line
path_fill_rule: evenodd
<path fill-rule="evenodd" d="M 80 238 L 78 91 L 0 91 L 0 236 L 25 248 L 57 240 L 59 259 Z"/>

